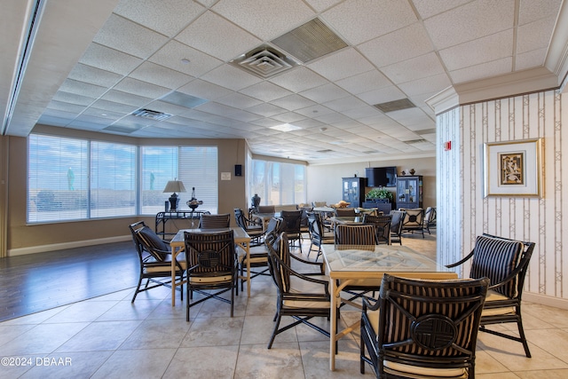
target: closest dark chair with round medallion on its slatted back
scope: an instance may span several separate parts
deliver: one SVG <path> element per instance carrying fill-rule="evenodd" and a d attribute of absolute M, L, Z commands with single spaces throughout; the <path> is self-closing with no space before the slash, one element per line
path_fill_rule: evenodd
<path fill-rule="evenodd" d="M 377 378 L 474 378 L 488 284 L 486 278 L 415 280 L 385 273 L 378 301 L 363 299 L 361 374 L 367 363 Z"/>

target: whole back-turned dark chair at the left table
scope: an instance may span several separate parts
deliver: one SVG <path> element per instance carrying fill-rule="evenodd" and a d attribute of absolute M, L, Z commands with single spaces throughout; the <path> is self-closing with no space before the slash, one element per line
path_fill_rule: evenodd
<path fill-rule="evenodd" d="M 214 233 L 185 232 L 184 240 L 187 258 L 185 320 L 189 321 L 189 310 L 193 305 L 210 298 L 231 304 L 233 317 L 238 272 L 233 230 Z M 230 299 L 221 296 L 228 291 L 231 292 Z M 193 292 L 203 297 L 193 301 Z"/>

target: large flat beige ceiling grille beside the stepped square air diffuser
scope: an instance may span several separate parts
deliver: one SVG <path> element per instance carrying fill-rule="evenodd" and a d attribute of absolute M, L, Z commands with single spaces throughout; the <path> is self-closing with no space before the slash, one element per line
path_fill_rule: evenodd
<path fill-rule="evenodd" d="M 347 47 L 347 43 L 319 19 L 308 21 L 271 42 L 304 63 Z"/>

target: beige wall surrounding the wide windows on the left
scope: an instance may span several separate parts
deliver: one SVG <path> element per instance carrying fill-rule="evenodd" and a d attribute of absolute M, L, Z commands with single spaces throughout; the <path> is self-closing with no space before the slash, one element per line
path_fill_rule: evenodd
<path fill-rule="evenodd" d="M 62 128 L 37 127 L 34 131 L 73 137 L 111 140 L 136 145 L 191 146 L 212 145 L 218 147 L 219 169 L 219 213 L 231 213 L 234 208 L 248 208 L 245 193 L 246 172 L 242 177 L 234 176 L 234 165 L 245 166 L 246 144 L 243 139 L 138 139 L 122 136 L 102 135 L 101 133 L 65 130 Z M 27 138 L 9 138 L 8 161 L 8 255 L 19 255 L 65 249 L 87 244 L 130 239 L 128 225 L 145 219 L 154 225 L 154 217 L 120 217 L 104 220 L 75 221 L 57 224 L 26 225 L 26 187 L 27 187 Z M 231 172 L 231 180 L 221 180 L 221 172 Z M 234 217 L 232 222 L 234 223 Z"/>

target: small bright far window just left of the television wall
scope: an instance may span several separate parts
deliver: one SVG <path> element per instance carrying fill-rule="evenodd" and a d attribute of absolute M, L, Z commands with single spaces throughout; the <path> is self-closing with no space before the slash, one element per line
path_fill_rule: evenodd
<path fill-rule="evenodd" d="M 305 166 L 253 159 L 249 193 L 258 193 L 263 205 L 288 205 L 306 201 Z"/>

